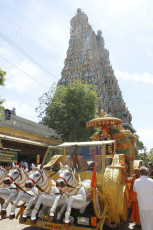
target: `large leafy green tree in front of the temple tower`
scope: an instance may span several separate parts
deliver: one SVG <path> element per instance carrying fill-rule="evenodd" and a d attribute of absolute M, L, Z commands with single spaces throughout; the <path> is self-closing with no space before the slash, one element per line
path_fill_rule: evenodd
<path fill-rule="evenodd" d="M 85 141 L 93 129 L 86 122 L 97 113 L 97 93 L 92 85 L 75 81 L 69 86 L 53 86 L 39 98 L 36 108 L 45 125 L 54 129 L 63 141 Z"/>

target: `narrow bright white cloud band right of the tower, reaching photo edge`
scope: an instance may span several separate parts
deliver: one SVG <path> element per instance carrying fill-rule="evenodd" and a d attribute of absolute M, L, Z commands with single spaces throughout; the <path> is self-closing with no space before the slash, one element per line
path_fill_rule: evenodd
<path fill-rule="evenodd" d="M 135 81 L 135 82 L 143 82 L 146 84 L 153 84 L 153 75 L 149 73 L 128 73 L 128 72 L 121 72 L 119 70 L 115 70 L 115 75 L 118 79 L 125 80 L 125 81 Z"/>

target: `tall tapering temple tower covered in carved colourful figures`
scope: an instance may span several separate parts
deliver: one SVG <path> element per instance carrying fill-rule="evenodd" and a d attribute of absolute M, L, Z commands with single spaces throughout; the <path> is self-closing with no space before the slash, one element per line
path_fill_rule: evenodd
<path fill-rule="evenodd" d="M 59 85 L 82 80 L 96 86 L 98 113 L 103 109 L 123 121 L 125 129 L 135 132 L 132 116 L 123 100 L 118 80 L 110 64 L 109 51 L 105 48 L 102 32 L 94 32 L 87 15 L 78 9 L 70 21 L 70 40 Z"/>

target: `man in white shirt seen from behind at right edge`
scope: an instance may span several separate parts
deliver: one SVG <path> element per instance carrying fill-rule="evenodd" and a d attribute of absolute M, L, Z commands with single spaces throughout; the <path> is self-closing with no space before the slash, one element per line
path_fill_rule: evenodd
<path fill-rule="evenodd" d="M 133 191 L 137 192 L 142 230 L 153 230 L 153 180 L 148 178 L 148 169 L 140 168 L 139 179 L 134 181 Z"/>

